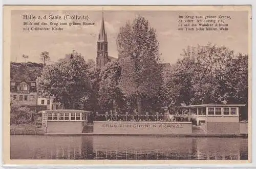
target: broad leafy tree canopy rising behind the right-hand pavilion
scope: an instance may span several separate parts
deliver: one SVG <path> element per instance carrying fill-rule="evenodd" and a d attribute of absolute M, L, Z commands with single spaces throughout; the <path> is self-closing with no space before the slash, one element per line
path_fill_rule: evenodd
<path fill-rule="evenodd" d="M 173 105 L 247 103 L 248 56 L 224 46 L 187 47 L 165 83 Z"/>

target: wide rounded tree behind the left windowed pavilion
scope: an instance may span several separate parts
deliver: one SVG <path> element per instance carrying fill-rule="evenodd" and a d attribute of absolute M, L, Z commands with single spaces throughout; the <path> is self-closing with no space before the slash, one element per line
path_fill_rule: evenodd
<path fill-rule="evenodd" d="M 44 67 L 36 79 L 37 92 L 60 102 L 66 109 L 77 109 L 81 98 L 90 95 L 89 66 L 81 54 L 74 51 L 69 55 L 70 59 Z"/>

